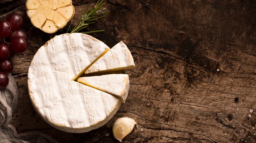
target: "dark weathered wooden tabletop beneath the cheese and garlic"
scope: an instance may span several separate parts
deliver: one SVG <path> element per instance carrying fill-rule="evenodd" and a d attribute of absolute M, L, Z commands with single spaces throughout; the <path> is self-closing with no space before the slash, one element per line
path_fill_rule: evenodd
<path fill-rule="evenodd" d="M 76 15 L 67 25 L 74 26 L 88 1 L 73 0 Z M 136 68 L 126 71 L 126 103 L 106 125 L 83 134 L 56 130 L 34 111 L 27 71 L 50 35 L 31 25 L 25 0 L 1 2 L 0 19 L 20 13 L 29 35 L 28 49 L 13 58 L 18 133 L 41 131 L 60 143 L 118 143 L 112 124 L 131 117 L 138 126 L 124 143 L 256 143 L 254 0 L 105 0 L 109 15 L 88 30 L 105 29 L 92 36 L 109 47 L 124 41 Z"/>

